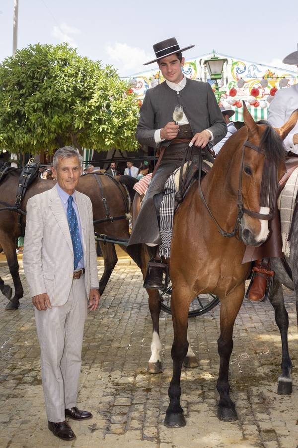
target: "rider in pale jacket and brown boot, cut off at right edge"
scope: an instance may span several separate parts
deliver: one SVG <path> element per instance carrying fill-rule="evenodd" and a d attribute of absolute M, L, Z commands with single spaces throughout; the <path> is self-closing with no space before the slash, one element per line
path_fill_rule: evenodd
<path fill-rule="evenodd" d="M 294 51 L 286 56 L 283 63 L 298 66 L 298 51 Z M 276 92 L 274 100 L 270 104 L 268 121 L 272 124 L 272 126 L 280 127 L 289 119 L 292 112 L 296 109 L 298 109 L 298 84 Z M 295 127 L 285 138 L 284 145 L 287 151 L 287 171 L 291 173 L 293 169 L 298 166 L 298 123 L 296 123 Z M 271 239 L 275 240 L 274 249 L 272 249 L 270 241 L 268 241 L 268 244 L 266 244 L 265 247 L 261 246 L 259 250 L 254 250 L 251 257 L 251 260 L 256 260 L 253 268 L 255 276 L 248 291 L 248 298 L 254 302 L 260 302 L 264 299 L 268 284 L 267 280 L 269 280 L 273 275 L 273 271 L 270 270 L 269 257 L 283 256 L 282 253 L 278 253 L 277 251 L 278 244 L 276 244 L 276 240 L 280 238 L 278 217 L 277 221 L 278 225 L 276 234 L 274 232 L 276 226 L 272 222 L 273 236 Z"/>

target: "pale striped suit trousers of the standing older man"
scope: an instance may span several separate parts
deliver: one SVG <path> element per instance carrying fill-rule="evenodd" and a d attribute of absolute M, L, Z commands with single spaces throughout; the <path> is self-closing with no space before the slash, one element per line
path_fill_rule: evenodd
<path fill-rule="evenodd" d="M 86 317 L 84 275 L 73 280 L 64 305 L 46 311 L 35 308 L 42 386 L 50 422 L 63 422 L 65 408 L 76 406 Z"/>

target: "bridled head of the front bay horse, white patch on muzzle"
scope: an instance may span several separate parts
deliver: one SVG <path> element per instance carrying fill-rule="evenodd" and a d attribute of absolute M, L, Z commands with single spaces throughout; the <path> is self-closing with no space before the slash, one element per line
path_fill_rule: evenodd
<path fill-rule="evenodd" d="M 286 171 L 283 139 L 295 126 L 298 110 L 281 128 L 274 128 L 269 122 L 256 123 L 244 103 L 243 109 L 247 139 L 237 181 L 239 209 L 242 207 L 243 212 L 239 236 L 246 245 L 259 246 L 269 236 L 268 220 L 276 206 L 278 181 Z"/>

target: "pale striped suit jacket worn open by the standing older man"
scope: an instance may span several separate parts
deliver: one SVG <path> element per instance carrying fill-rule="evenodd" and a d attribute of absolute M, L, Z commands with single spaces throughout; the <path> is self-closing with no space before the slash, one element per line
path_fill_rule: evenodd
<path fill-rule="evenodd" d="M 86 295 L 98 288 L 92 204 L 78 191 L 75 199 L 82 228 Z M 74 274 L 74 251 L 67 216 L 56 185 L 27 203 L 23 252 L 24 272 L 31 297 L 47 293 L 52 306 L 64 305 Z"/>

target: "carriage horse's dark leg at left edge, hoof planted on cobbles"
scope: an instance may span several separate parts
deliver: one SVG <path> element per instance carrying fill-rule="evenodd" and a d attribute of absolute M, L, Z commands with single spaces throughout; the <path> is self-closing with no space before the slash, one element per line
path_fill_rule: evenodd
<path fill-rule="evenodd" d="M 5 239 L 3 239 L 5 238 Z M 10 299 L 10 302 L 6 305 L 5 310 L 17 310 L 20 306 L 19 299 L 23 297 L 24 290 L 22 287 L 21 279 L 19 276 L 19 265 L 17 262 L 17 256 L 15 251 L 15 242 L 13 239 L 9 239 L 7 235 L 1 235 L 2 248 L 4 250 L 9 272 L 13 280 L 14 296 Z"/>

